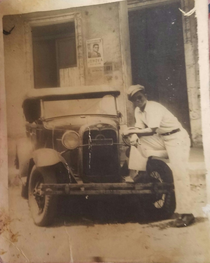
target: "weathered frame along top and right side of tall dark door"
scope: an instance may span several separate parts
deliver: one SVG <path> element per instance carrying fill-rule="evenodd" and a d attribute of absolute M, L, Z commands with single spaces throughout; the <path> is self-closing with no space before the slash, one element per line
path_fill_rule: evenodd
<path fill-rule="evenodd" d="M 127 0 L 127 12 L 175 2 L 181 2 L 181 9 L 185 12 L 190 11 L 194 7 L 194 1 L 191 0 L 146 0 L 143 2 Z M 192 145 L 200 146 L 202 145 L 202 130 L 200 110 L 201 104 L 199 99 L 200 92 L 196 25 L 196 17 L 194 17 L 194 15 L 190 17 L 182 15 L 189 121 L 193 142 Z"/>

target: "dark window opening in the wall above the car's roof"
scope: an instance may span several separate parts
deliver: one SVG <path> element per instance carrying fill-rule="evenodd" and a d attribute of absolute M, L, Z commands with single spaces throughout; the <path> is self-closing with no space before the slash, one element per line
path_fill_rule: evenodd
<path fill-rule="evenodd" d="M 60 69 L 77 67 L 75 23 L 32 27 L 34 88 L 60 87 Z"/>

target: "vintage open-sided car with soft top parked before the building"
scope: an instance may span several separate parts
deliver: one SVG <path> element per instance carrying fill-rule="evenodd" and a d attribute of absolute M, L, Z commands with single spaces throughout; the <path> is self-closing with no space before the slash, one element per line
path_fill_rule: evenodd
<path fill-rule="evenodd" d="M 173 214 L 173 176 L 164 159 L 150 156 L 146 176 L 123 181 L 119 147 L 128 143 L 121 137 L 119 95 L 85 86 L 32 89 L 24 98 L 27 136 L 17 144 L 16 166 L 35 224 L 52 223 L 58 195 L 135 195 L 153 215 Z"/>

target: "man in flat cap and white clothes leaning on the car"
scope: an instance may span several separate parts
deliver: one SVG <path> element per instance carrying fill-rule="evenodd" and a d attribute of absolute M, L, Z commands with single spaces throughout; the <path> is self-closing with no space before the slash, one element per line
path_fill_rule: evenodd
<path fill-rule="evenodd" d="M 133 85 L 128 89 L 128 99 L 135 107 L 135 127 L 129 128 L 124 135 L 129 136 L 130 143 L 136 145 L 139 141 L 144 150 L 166 150 L 173 172 L 176 212 L 180 217 L 176 220 L 177 227 L 188 226 L 194 221 L 190 212 L 190 181 L 187 172 L 190 139 L 187 131 L 183 129 L 177 118 L 160 103 L 148 101 L 145 88 Z M 140 129 L 139 129 L 140 128 Z M 148 136 L 145 136 L 148 135 Z M 129 169 L 137 169 L 141 163 L 141 151 L 134 154 L 135 146 L 131 146 Z M 142 160 L 145 158 L 142 156 Z"/>

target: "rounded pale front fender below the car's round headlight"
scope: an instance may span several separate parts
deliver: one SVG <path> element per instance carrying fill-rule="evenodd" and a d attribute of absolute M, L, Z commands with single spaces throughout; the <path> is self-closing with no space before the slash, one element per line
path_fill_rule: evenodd
<path fill-rule="evenodd" d="M 55 150 L 42 148 L 35 150 L 32 158 L 37 167 L 50 166 L 62 162 L 66 166 L 65 159 Z"/>

